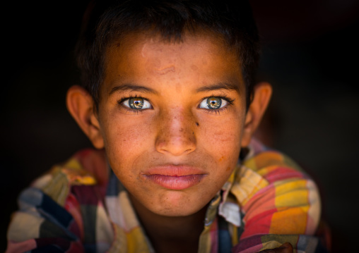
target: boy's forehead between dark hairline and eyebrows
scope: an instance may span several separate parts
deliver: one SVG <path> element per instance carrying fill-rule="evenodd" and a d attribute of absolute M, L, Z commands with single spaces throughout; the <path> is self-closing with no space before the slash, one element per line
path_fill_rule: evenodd
<path fill-rule="evenodd" d="M 183 81 L 230 81 L 244 87 L 240 61 L 223 39 L 200 34 L 169 42 L 160 36 L 133 33 L 107 48 L 105 83 L 134 82 L 144 76 L 170 75 Z M 228 80 L 232 79 L 232 80 Z M 235 79 L 235 80 L 234 80 Z"/>

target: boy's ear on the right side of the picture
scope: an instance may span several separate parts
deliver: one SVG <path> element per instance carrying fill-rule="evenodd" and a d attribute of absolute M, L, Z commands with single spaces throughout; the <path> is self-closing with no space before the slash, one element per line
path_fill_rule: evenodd
<path fill-rule="evenodd" d="M 261 118 L 271 100 L 271 94 L 272 87 L 268 82 L 259 82 L 254 87 L 253 101 L 252 104 L 249 105 L 245 118 L 245 128 L 241 141 L 242 147 L 247 147 L 249 145 L 252 135 L 261 122 Z"/>

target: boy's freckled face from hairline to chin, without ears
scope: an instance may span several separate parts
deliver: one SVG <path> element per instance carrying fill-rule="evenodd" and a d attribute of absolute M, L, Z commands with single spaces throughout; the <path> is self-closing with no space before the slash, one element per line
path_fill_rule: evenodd
<path fill-rule="evenodd" d="M 245 85 L 217 39 L 131 35 L 107 50 L 98 125 L 114 173 L 146 209 L 188 216 L 233 172 L 246 121 Z"/>

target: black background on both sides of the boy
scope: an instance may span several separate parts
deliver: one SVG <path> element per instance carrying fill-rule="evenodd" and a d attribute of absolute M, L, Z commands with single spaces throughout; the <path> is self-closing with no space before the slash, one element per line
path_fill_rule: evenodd
<path fill-rule="evenodd" d="M 20 190 L 90 147 L 64 99 L 79 83 L 73 47 L 87 2 L 1 6 L 0 251 Z M 252 6 L 264 42 L 260 77 L 274 87 L 260 133 L 317 180 L 333 252 L 356 252 L 359 1 Z"/>

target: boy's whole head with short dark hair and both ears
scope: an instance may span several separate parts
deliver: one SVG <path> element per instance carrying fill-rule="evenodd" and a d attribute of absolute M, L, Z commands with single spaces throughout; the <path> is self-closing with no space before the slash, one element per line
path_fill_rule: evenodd
<path fill-rule="evenodd" d="M 271 96 L 256 85 L 249 104 L 257 30 L 247 4 L 131 2 L 83 35 L 86 89 L 67 106 L 137 211 L 189 216 L 228 180 Z"/>

